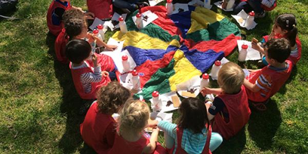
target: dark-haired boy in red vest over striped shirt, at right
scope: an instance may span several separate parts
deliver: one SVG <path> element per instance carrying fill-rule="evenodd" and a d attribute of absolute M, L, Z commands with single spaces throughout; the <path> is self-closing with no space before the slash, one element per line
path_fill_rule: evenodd
<path fill-rule="evenodd" d="M 264 46 L 265 60 L 269 64 L 262 69 L 249 70 L 251 73 L 244 80 L 249 103 L 258 110 L 265 110 L 265 103 L 289 78 L 292 70 L 291 47 L 285 38 L 269 40 Z"/>

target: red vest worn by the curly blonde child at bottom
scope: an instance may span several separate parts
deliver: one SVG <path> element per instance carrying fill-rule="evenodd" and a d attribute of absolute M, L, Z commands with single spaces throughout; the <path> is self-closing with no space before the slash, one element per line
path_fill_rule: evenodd
<path fill-rule="evenodd" d="M 145 135 L 141 136 L 141 138 L 136 142 L 126 141 L 124 138 L 119 136 L 118 133 L 115 134 L 115 139 L 113 143 L 113 147 L 109 151 L 109 154 L 136 154 L 141 153 L 143 148 L 146 147 L 150 143 L 150 140 Z M 167 153 L 166 149 L 157 142 L 156 149 L 153 154 L 165 154 Z"/>

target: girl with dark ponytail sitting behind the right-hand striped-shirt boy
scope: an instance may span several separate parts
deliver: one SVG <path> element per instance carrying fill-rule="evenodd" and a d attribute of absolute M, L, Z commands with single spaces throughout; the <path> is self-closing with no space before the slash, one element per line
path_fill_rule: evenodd
<path fill-rule="evenodd" d="M 296 65 L 301 57 L 301 42 L 297 36 L 298 30 L 296 25 L 296 18 L 294 14 L 281 14 L 277 16 L 271 34 L 263 36 L 263 40 L 261 41 L 262 45 L 264 45 L 268 40 L 272 40 L 273 38 L 286 38 L 291 46 L 291 54 L 287 60 L 290 60 L 293 65 Z M 264 56 L 264 48 L 261 47 L 259 43 L 254 41 L 252 42 L 252 47 L 263 55 L 263 64 L 268 65 Z"/>

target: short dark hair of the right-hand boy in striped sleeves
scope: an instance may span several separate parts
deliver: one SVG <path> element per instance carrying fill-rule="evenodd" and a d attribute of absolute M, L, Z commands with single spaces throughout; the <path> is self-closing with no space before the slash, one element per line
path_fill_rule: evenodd
<path fill-rule="evenodd" d="M 279 63 L 283 63 L 291 53 L 290 43 L 285 38 L 269 40 L 265 48 L 267 48 L 267 56 Z"/>

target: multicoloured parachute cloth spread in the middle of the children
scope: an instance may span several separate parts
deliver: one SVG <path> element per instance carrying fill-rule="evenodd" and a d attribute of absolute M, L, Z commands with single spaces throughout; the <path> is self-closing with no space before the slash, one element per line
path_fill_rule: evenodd
<path fill-rule="evenodd" d="M 239 28 L 225 17 L 201 7 L 189 7 L 189 11 L 166 16 L 163 6 L 145 7 L 158 15 L 141 30 L 127 17 L 129 32 L 120 31 L 112 37 L 124 41 L 136 62 L 140 75 L 142 95 L 151 98 L 152 91 L 167 93 L 176 91 L 176 85 L 201 75 L 216 60 L 230 54 L 240 39 Z"/>

